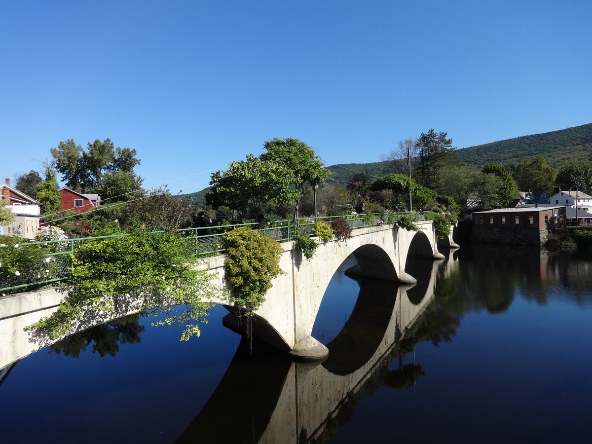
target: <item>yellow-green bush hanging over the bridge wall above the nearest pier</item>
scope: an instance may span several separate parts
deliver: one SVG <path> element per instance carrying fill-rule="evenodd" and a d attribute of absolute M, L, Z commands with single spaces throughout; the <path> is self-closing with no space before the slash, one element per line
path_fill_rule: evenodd
<path fill-rule="evenodd" d="M 253 314 L 265 301 L 273 278 L 283 273 L 279 259 L 284 251 L 269 237 L 239 227 L 224 235 L 226 281 L 232 288 L 231 301 Z"/>

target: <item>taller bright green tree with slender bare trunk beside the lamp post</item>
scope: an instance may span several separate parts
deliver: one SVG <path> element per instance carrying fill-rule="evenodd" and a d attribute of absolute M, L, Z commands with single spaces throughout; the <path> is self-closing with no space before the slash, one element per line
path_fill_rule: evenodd
<path fill-rule="evenodd" d="M 297 191 L 294 202 L 294 219 L 298 218 L 298 203 L 303 197 L 306 186 L 317 185 L 331 174 L 323 168 L 323 161 L 314 150 L 298 139 L 272 139 L 263 144 L 266 153 L 260 158 L 264 162 L 275 162 L 292 172 L 292 186 Z"/>

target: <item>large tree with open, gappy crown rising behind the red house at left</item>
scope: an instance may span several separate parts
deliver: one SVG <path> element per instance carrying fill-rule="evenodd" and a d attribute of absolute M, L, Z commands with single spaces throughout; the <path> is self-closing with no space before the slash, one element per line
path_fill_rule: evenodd
<path fill-rule="evenodd" d="M 140 164 L 136 157 L 136 150 L 130 148 L 115 148 L 110 139 L 88 143 L 85 151 L 76 145 L 72 139 L 60 141 L 56 148 L 50 149 L 56 169 L 62 174 L 66 186 L 78 192 L 99 193 L 107 192 L 112 197 L 124 195 L 130 191 L 138 192 L 143 179 L 134 173 L 134 167 Z M 109 174 L 123 172 L 115 180 Z M 110 179 L 108 188 L 104 188 L 103 181 Z M 129 182 L 136 182 L 130 186 Z M 116 185 L 121 185 L 118 188 Z"/>

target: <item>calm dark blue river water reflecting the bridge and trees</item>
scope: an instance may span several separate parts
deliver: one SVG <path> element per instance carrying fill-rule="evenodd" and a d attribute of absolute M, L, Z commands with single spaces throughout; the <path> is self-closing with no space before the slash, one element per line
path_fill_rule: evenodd
<path fill-rule="evenodd" d="M 141 315 L 73 336 L 4 377 L 0 442 L 590 442 L 592 260 L 482 247 L 432 264 L 409 264 L 405 292 L 336 273 L 312 369 L 250 355 L 219 306 L 189 342 Z"/>

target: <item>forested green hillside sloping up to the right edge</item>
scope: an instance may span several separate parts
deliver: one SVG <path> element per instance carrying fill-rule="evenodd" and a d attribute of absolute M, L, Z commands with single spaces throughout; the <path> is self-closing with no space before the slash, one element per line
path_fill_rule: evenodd
<path fill-rule="evenodd" d="M 458 150 L 467 165 L 520 163 L 537 156 L 558 169 L 570 160 L 592 160 L 592 123 L 550 133 L 515 137 Z"/>

